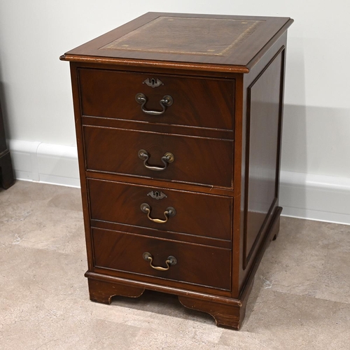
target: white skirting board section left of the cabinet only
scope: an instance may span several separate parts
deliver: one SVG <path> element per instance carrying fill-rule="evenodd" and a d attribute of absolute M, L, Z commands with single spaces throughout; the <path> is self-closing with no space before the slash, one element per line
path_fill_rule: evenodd
<path fill-rule="evenodd" d="M 76 147 L 20 140 L 8 145 L 16 179 L 80 187 Z"/>

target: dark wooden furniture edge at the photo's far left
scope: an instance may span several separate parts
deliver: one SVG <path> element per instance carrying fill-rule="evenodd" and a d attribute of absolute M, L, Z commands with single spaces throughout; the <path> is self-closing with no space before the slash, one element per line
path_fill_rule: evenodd
<path fill-rule="evenodd" d="M 13 185 L 12 162 L 10 151 L 6 144 L 5 126 L 3 125 L 3 115 L 0 102 L 0 186 L 7 189 Z"/>

